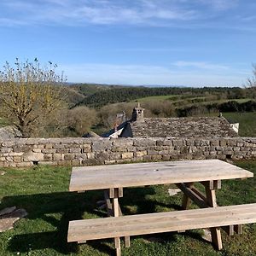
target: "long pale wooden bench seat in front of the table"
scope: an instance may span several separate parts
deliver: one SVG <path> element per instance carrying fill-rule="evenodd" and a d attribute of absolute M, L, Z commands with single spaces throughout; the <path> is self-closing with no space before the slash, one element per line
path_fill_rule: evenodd
<path fill-rule="evenodd" d="M 156 212 L 69 222 L 67 241 L 137 236 L 256 222 L 256 204 Z"/>

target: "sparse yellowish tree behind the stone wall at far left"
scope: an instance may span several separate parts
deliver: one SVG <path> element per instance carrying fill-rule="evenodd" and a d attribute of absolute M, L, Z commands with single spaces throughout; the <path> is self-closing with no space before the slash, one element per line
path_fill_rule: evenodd
<path fill-rule="evenodd" d="M 3 114 L 24 137 L 44 127 L 49 117 L 65 106 L 62 84 L 65 79 L 55 73 L 57 66 L 49 61 L 42 67 L 38 59 L 14 65 L 9 62 L 0 71 L 0 99 Z"/>

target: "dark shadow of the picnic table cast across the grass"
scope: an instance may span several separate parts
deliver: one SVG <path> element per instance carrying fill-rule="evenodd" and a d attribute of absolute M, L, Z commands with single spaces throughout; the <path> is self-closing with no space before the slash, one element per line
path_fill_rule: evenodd
<path fill-rule="evenodd" d="M 121 208 L 124 209 L 123 213 L 130 215 L 134 213 L 156 212 L 156 206 L 172 207 L 175 210 L 181 209 L 180 206 L 172 204 L 172 201 L 170 201 L 170 204 L 167 204 L 155 201 L 153 198 L 148 199 L 148 195 L 154 194 L 154 187 L 125 189 L 124 197 L 120 199 Z M 84 214 L 89 214 L 89 218 L 91 218 L 91 215 L 93 215 L 93 218 L 107 217 L 106 212 L 96 208 L 96 201 L 102 200 L 102 197 L 102 191 L 86 191 L 79 194 L 58 192 L 4 197 L 1 208 L 9 206 L 25 208 L 28 212 L 26 218 L 35 220 L 32 224 L 26 223 L 26 225 L 30 225 L 27 230 L 35 230 L 35 232 L 22 234 L 22 228 L 21 231 L 18 230 L 20 234 L 12 236 L 9 241 L 9 251 L 12 253 L 27 253 L 31 250 L 51 248 L 63 254 L 79 253 L 79 245 L 77 243 L 67 243 L 68 222 L 73 219 L 81 219 L 84 217 Z M 131 207 L 135 207 L 135 212 L 130 210 Z M 55 218 L 55 213 L 58 216 L 61 214 L 61 216 Z M 49 225 L 47 224 L 46 228 L 44 225 L 40 226 L 42 220 L 43 223 L 45 222 L 52 226 L 51 230 L 49 230 Z M 154 237 L 159 237 L 160 240 L 175 241 L 175 234 L 176 232 L 155 234 Z M 186 232 L 182 235 L 201 240 L 201 236 L 196 233 Z M 147 237 L 145 236 L 145 239 Z M 113 254 L 113 247 L 108 246 L 106 241 L 110 240 L 88 241 L 87 244 L 102 253 Z"/>

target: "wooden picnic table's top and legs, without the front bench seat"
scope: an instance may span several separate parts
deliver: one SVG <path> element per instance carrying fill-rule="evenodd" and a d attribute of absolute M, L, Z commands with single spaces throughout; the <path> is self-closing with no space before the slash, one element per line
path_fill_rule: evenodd
<path fill-rule="evenodd" d="M 222 180 L 247 177 L 253 177 L 253 173 L 222 160 L 183 160 L 111 166 L 83 166 L 73 167 L 69 191 L 104 189 L 108 215 L 119 217 L 122 215 L 119 207 L 119 197 L 123 196 L 123 188 L 174 183 L 183 191 L 183 209 L 189 208 L 191 200 L 199 207 L 207 208 L 218 207 L 215 191 L 221 188 Z M 195 182 L 204 185 L 205 195 L 195 189 Z M 241 224 L 223 226 L 222 228 L 229 235 L 233 235 L 234 231 L 241 233 Z M 222 241 L 219 228 L 213 227 L 210 230 L 212 244 L 217 249 L 221 249 Z M 179 231 L 181 230 L 179 229 Z M 114 241 L 116 254 L 120 255 L 119 237 L 115 237 Z M 125 247 L 129 246 L 130 237 L 125 236 Z"/>

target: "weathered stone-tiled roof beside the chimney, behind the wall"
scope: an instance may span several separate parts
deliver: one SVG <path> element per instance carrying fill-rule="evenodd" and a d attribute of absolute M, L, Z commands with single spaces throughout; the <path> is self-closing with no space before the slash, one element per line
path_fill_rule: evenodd
<path fill-rule="evenodd" d="M 238 137 L 229 122 L 218 117 L 145 118 L 130 125 L 132 137 Z"/>

